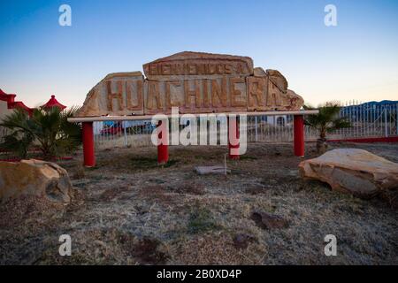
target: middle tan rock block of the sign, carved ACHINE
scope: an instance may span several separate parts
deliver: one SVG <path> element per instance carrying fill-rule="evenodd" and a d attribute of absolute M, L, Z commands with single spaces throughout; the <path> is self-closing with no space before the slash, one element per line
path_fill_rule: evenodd
<path fill-rule="evenodd" d="M 222 76 L 213 79 L 145 80 L 145 114 L 247 111 L 245 78 Z"/>

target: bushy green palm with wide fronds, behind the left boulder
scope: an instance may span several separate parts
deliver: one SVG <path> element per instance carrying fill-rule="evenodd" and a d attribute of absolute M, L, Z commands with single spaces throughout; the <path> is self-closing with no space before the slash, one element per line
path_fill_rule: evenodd
<path fill-rule="evenodd" d="M 11 130 L 11 134 L 0 143 L 0 148 L 26 158 L 28 149 L 34 146 L 42 151 L 46 160 L 72 152 L 81 143 L 80 126 L 69 123 L 67 119 L 78 110 L 76 107 L 65 111 L 57 107 L 39 108 L 34 109 L 31 117 L 26 111 L 16 110 L 0 123 L 0 126 Z"/>

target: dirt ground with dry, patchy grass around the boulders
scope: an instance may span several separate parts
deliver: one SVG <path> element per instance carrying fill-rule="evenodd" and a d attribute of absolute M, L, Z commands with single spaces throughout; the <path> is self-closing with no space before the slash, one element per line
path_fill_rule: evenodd
<path fill-rule="evenodd" d="M 307 144 L 306 158 L 316 157 Z M 398 162 L 398 144 L 337 143 Z M 200 176 L 196 165 L 224 164 L 226 147 L 104 149 L 97 166 L 60 162 L 73 180 L 67 206 L 24 197 L 0 205 L 0 264 L 398 264 L 398 210 L 303 181 L 291 144 L 251 143 L 232 172 Z M 264 211 L 288 225 L 263 229 Z M 70 234 L 72 256 L 59 256 Z M 235 237 L 249 239 L 242 245 Z M 325 235 L 337 256 L 325 256 Z M 239 237 L 238 237 L 239 238 Z"/>

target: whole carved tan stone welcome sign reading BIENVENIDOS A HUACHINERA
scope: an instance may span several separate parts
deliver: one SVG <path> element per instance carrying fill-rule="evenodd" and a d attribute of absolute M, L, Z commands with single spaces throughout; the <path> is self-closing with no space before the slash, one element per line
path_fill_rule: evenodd
<path fill-rule="evenodd" d="M 141 72 L 111 73 L 92 88 L 77 114 L 87 116 L 293 111 L 301 96 L 275 70 L 254 68 L 250 57 L 180 52 L 143 65 Z"/>

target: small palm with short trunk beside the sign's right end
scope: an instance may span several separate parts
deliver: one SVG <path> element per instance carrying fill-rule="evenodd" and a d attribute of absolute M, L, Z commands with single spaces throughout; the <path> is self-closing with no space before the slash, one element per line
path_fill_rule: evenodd
<path fill-rule="evenodd" d="M 313 110 L 308 105 L 304 105 L 305 110 Z M 319 133 L 317 140 L 317 151 L 318 153 L 324 153 L 327 149 L 326 134 L 332 133 L 341 128 L 347 128 L 351 126 L 351 123 L 346 117 L 340 117 L 341 106 L 339 103 L 325 103 L 325 105 L 318 107 L 318 114 L 309 115 L 304 120 L 304 124 L 316 129 Z"/>

